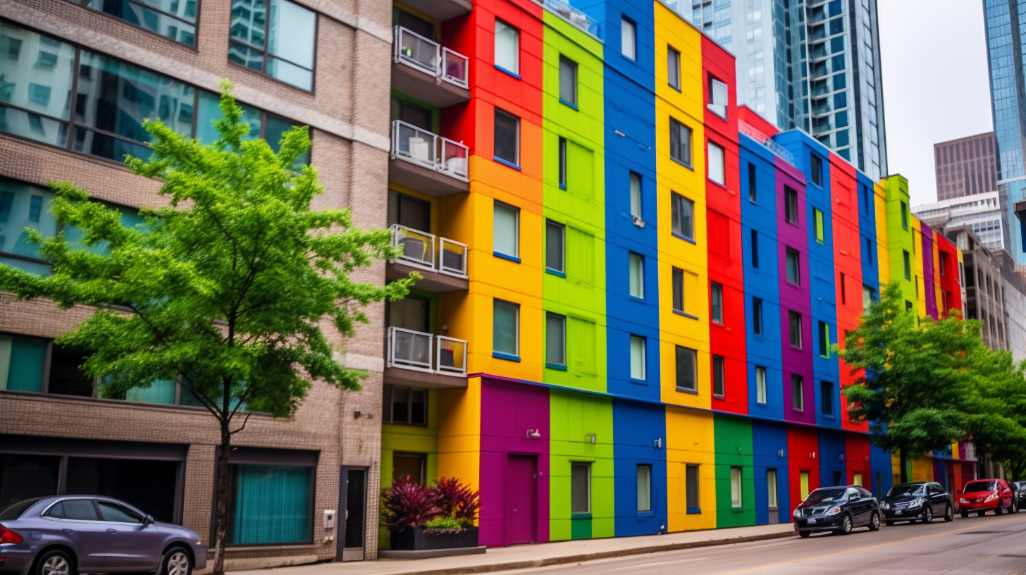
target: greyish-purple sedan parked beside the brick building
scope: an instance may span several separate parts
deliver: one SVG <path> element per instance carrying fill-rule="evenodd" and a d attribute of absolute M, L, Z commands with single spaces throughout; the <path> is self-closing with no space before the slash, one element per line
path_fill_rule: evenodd
<path fill-rule="evenodd" d="M 205 567 L 198 535 L 117 499 L 37 497 L 0 510 L 0 572 L 191 575 Z"/>

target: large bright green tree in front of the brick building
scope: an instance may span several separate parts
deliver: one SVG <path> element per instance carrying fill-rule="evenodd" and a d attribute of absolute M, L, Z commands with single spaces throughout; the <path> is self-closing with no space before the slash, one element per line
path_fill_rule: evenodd
<path fill-rule="evenodd" d="M 105 396 L 179 378 L 183 391 L 216 418 L 216 533 L 213 572 L 224 572 L 228 528 L 228 459 L 232 436 L 253 412 L 289 417 L 312 382 L 359 389 L 366 374 L 348 369 L 322 325 L 352 336 L 361 308 L 402 298 L 413 278 L 388 285 L 350 279 L 357 268 L 392 254 L 386 230 L 355 229 L 348 209 L 314 212 L 317 171 L 298 157 L 310 148 L 295 127 L 274 153 L 245 141 L 248 125 L 223 82 L 224 118 L 211 145 L 149 120 L 153 155 L 127 157 L 135 174 L 163 182 L 168 205 L 144 209 L 145 225 L 126 228 L 117 209 L 90 201 L 70 184 L 51 184 L 57 221 L 82 232 L 31 231 L 50 275 L 0 265 L 0 290 L 19 299 L 49 298 L 62 308 L 95 313 L 58 343 L 89 355 L 82 368 Z"/>

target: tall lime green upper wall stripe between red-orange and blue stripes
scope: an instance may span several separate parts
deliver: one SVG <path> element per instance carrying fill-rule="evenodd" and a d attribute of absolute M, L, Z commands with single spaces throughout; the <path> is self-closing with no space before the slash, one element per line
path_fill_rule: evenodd
<path fill-rule="evenodd" d="M 546 273 L 542 297 L 546 311 L 567 317 L 566 370 L 546 369 L 544 381 L 605 391 L 602 44 L 549 11 L 544 22 L 543 215 L 566 226 L 566 277 Z M 560 56 L 577 64 L 577 109 L 559 102 Z M 566 189 L 559 186 L 560 139 L 566 141 Z"/>

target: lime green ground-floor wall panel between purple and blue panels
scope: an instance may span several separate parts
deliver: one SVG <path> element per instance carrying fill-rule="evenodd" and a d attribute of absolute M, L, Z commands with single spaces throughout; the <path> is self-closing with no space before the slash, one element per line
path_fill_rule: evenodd
<path fill-rule="evenodd" d="M 613 399 L 553 389 L 549 425 L 549 537 L 553 541 L 615 535 Z M 595 443 L 591 443 L 591 435 Z M 570 462 L 591 464 L 591 513 L 570 513 Z M 587 526 L 587 527 L 585 527 Z M 584 535 L 587 533 L 587 535 Z"/>

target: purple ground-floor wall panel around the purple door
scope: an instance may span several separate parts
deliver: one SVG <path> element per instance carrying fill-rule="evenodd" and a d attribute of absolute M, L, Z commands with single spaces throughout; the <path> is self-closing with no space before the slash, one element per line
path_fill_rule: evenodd
<path fill-rule="evenodd" d="M 540 438 L 527 437 L 537 429 Z M 504 512 L 510 455 L 537 457 L 537 541 L 549 540 L 549 390 L 481 378 L 480 544 L 509 545 Z"/>

